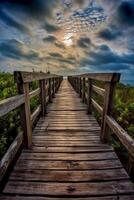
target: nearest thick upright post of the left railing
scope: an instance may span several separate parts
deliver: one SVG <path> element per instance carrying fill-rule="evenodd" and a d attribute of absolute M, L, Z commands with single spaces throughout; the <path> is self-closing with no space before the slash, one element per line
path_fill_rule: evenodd
<path fill-rule="evenodd" d="M 24 147 L 30 148 L 32 145 L 32 123 L 30 111 L 29 83 L 17 83 L 19 94 L 24 94 L 25 103 L 20 109 L 20 119 L 24 134 Z"/>

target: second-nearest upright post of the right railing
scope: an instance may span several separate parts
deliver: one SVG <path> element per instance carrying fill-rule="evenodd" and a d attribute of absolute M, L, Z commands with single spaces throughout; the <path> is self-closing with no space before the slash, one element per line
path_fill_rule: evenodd
<path fill-rule="evenodd" d="M 87 87 L 87 107 L 88 107 L 88 114 L 92 114 L 92 80 L 89 78 Z"/>

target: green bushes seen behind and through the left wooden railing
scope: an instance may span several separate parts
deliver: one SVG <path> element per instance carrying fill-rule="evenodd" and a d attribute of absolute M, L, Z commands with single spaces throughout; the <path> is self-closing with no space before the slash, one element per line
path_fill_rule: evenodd
<path fill-rule="evenodd" d="M 38 87 L 37 82 L 30 84 L 30 91 Z M 0 73 L 0 101 L 17 95 L 17 85 L 14 83 L 14 76 L 10 73 Z M 31 112 L 39 104 L 39 98 L 31 99 Z M 21 130 L 19 108 L 0 118 L 0 158 L 4 155 L 17 133 Z"/>

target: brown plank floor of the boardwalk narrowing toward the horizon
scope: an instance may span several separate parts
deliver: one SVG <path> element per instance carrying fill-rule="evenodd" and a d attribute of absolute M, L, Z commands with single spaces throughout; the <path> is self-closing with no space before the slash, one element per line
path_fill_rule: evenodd
<path fill-rule="evenodd" d="M 134 187 L 100 127 L 67 80 L 40 118 L 3 200 L 132 200 Z"/>

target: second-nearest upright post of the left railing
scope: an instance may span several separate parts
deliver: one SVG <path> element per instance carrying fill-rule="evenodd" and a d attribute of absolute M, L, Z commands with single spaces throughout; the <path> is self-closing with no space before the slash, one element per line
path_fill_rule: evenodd
<path fill-rule="evenodd" d="M 40 101 L 41 101 L 41 114 L 44 117 L 46 114 L 46 80 L 40 80 Z"/>

